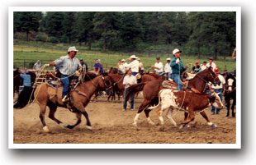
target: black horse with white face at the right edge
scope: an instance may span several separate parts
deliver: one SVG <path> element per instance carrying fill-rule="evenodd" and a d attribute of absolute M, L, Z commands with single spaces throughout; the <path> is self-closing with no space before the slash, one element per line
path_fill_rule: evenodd
<path fill-rule="evenodd" d="M 229 72 L 225 72 L 225 104 L 227 108 L 226 117 L 230 116 L 230 101 L 233 99 L 233 103 L 231 106 L 232 117 L 235 117 L 235 104 L 236 104 L 236 79 Z"/>

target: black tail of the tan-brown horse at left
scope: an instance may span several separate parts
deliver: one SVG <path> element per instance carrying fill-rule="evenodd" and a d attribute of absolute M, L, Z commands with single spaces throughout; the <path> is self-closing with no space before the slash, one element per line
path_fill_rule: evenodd
<path fill-rule="evenodd" d="M 19 94 L 19 98 L 16 104 L 13 105 L 13 108 L 25 108 L 28 103 L 31 103 L 35 99 L 34 93 L 36 88 L 25 88 Z"/>

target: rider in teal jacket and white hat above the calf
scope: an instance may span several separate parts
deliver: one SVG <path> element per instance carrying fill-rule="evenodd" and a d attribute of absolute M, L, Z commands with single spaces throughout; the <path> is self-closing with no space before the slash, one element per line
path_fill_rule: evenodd
<path fill-rule="evenodd" d="M 189 64 L 187 64 L 187 67 L 183 66 L 183 61 L 180 58 L 181 51 L 178 50 L 178 48 L 175 48 L 173 50 L 173 56 L 174 57 L 171 61 L 172 79 L 178 85 L 178 90 L 183 90 L 182 74 L 183 74 L 183 71 L 187 70 L 187 67 L 189 67 Z"/>

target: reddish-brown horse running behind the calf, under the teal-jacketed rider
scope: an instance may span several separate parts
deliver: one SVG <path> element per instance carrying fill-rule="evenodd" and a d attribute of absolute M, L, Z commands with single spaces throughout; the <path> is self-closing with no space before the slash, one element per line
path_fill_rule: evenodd
<path fill-rule="evenodd" d="M 217 78 L 215 73 L 209 67 L 204 71 L 201 71 L 200 73 L 198 73 L 197 76 L 195 76 L 192 80 L 188 81 L 186 91 L 192 91 L 192 89 L 195 88 L 200 93 L 203 93 L 206 83 L 207 82 L 215 83 L 216 80 Z M 137 126 L 137 120 L 140 115 L 140 112 L 142 111 L 145 112 L 145 116 L 147 117 L 149 124 L 154 125 L 154 122 L 151 121 L 149 117 L 149 112 L 151 110 L 147 108 L 149 108 L 149 106 L 154 106 L 159 102 L 159 99 L 158 99 L 159 91 L 161 89 L 164 89 L 164 87 L 162 86 L 162 82 L 163 80 L 152 80 L 146 83 L 139 83 L 137 85 L 130 86 L 125 101 L 128 101 L 131 95 L 137 93 L 140 90 L 143 90 L 143 95 L 144 95 L 144 101 L 140 104 L 140 108 L 134 119 L 134 126 Z M 200 113 L 201 113 L 201 116 L 204 117 L 207 122 L 211 122 L 209 118 L 206 116 L 206 112 L 202 111 Z M 187 113 L 185 113 L 185 119 L 187 119 Z"/>

